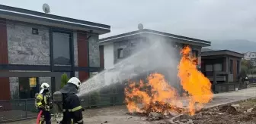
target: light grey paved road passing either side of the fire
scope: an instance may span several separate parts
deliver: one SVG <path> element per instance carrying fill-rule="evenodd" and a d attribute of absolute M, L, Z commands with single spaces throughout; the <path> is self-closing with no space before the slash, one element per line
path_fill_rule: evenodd
<path fill-rule="evenodd" d="M 241 101 L 248 98 L 256 97 L 256 88 L 247 88 L 240 91 L 232 91 L 226 93 L 220 93 L 214 95 L 213 101 L 206 105 L 206 107 L 213 107 L 219 104 L 226 104 L 234 101 Z M 85 110 L 84 121 L 90 124 L 101 124 L 107 121 L 107 124 L 149 124 L 145 121 L 145 117 L 129 116 L 126 115 L 125 106 L 116 107 L 104 107 L 99 109 Z M 34 124 L 35 119 L 21 121 L 21 122 L 9 122 L 8 124 Z M 55 124 L 55 122 L 53 122 Z M 153 123 L 150 123 L 153 124 Z"/>

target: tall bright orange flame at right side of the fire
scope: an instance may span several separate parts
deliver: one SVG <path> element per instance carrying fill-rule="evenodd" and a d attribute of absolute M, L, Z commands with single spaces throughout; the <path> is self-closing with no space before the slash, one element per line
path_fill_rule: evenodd
<path fill-rule="evenodd" d="M 211 82 L 203 73 L 197 70 L 194 63 L 194 57 L 190 57 L 190 48 L 188 46 L 181 50 L 181 61 L 178 65 L 178 77 L 181 79 L 183 89 L 190 96 L 189 111 L 194 114 L 195 104 L 198 103 L 197 109 L 202 108 L 203 104 L 210 102 L 213 98 L 211 91 Z"/>

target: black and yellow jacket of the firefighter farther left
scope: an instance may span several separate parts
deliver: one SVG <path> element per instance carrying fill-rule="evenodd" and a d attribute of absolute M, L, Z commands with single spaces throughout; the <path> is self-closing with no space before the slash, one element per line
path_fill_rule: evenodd
<path fill-rule="evenodd" d="M 36 107 L 40 110 L 50 111 L 50 93 L 49 92 L 43 92 L 42 94 L 37 95 Z"/>

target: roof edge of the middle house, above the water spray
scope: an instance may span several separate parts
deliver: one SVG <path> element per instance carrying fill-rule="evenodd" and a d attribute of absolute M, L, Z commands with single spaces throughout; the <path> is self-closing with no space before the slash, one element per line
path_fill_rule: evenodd
<path fill-rule="evenodd" d="M 194 42 L 194 43 L 200 43 L 203 46 L 210 46 L 211 42 L 205 41 L 205 40 L 200 40 L 200 39 L 193 39 L 193 38 L 189 38 L 189 37 L 185 37 L 185 36 L 177 36 L 171 33 L 163 33 L 163 32 L 159 32 L 159 31 L 155 31 L 152 29 L 141 29 L 141 30 L 136 30 L 130 33 L 123 33 L 117 36 L 110 36 L 104 39 L 100 39 L 100 43 L 105 44 L 107 42 L 119 42 L 119 41 L 123 41 L 129 38 L 136 38 L 136 37 L 140 37 L 143 35 L 155 35 L 155 36 L 163 36 L 163 37 L 167 37 L 167 38 L 171 38 L 171 39 L 180 39 L 181 41 L 185 41 L 185 42 Z"/>

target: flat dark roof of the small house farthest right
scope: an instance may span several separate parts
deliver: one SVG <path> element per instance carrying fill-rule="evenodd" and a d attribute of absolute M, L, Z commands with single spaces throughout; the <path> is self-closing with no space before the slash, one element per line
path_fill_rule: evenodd
<path fill-rule="evenodd" d="M 216 55 L 229 55 L 233 57 L 244 57 L 244 54 L 235 52 L 235 51 L 229 51 L 229 50 L 219 50 L 219 51 L 203 51 L 201 52 L 201 57 L 210 57 L 210 56 L 216 56 Z"/>

